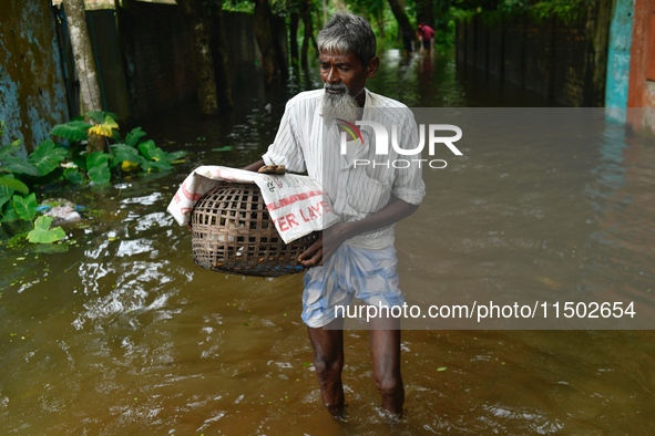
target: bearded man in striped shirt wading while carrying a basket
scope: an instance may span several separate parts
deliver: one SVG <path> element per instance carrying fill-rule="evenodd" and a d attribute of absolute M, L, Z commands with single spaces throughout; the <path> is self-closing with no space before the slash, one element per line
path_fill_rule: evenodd
<path fill-rule="evenodd" d="M 307 172 L 321 184 L 340 218 L 299 260 L 311 267 L 304 279 L 303 321 L 314 346 L 320 395 L 335 416 L 344 417 L 344 318 L 336 318 L 335 308 L 348 305 L 352 298 L 376 307 L 402 305 L 393 224 L 418 208 L 424 185 L 418 166 L 355 167 L 355 158 L 379 158 L 375 135 L 365 127 L 364 136 L 352 135 L 354 141 L 340 146 L 341 132 L 358 120 L 375 121 L 389 132 L 396 124 L 398 141 L 403 143 L 400 147 L 413 149 L 418 144 L 417 125 L 407 106 L 365 87 L 380 62 L 376 35 L 368 22 L 337 13 L 318 33 L 317 43 L 324 89 L 303 92 L 287 103 L 274 143 L 263 160 L 246 169 L 284 165 L 289 172 Z M 342 148 L 347 148 L 344 154 Z M 402 156 L 392 149 L 385 156 L 393 157 Z M 405 402 L 400 320 L 378 318 L 368 328 L 373 378 L 382 407 L 390 416 L 400 417 Z"/>

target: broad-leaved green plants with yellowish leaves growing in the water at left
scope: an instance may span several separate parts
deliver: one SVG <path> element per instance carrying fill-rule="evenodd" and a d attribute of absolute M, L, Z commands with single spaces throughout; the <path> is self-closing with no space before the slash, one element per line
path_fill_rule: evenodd
<path fill-rule="evenodd" d="M 52 217 L 37 217 L 41 208 L 35 187 L 106 185 L 125 173 L 167 170 L 184 162 L 186 152 L 164 152 L 152 139 L 143 141 L 146 134 L 141 127 L 122 138 L 115 117 L 106 112 L 89 112 L 90 123 L 75 118 L 55 125 L 50 131 L 55 141 L 43 141 L 27 156 L 20 139 L 0 143 L 0 224 L 17 233 L 14 238 L 27 237 L 34 243 L 65 238 L 61 227 L 51 227 Z M 0 139 L 3 126 L 0 122 Z"/>

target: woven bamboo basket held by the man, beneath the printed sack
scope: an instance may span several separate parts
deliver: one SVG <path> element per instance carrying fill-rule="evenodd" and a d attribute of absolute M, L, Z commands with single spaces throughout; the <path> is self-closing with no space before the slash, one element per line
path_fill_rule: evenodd
<path fill-rule="evenodd" d="M 285 243 L 254 184 L 225 183 L 205 194 L 192 211 L 191 228 L 197 266 L 246 276 L 303 271 L 298 256 L 317 238 L 311 233 Z"/>

